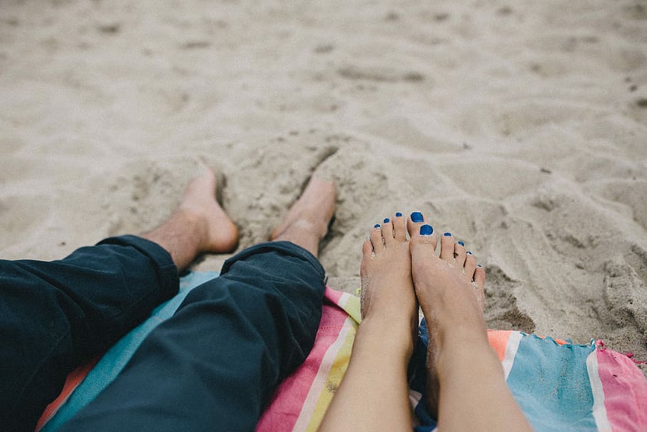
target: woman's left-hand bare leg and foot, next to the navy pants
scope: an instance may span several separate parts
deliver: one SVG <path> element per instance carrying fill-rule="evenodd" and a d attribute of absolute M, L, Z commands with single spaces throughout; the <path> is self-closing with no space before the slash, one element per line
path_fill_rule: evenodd
<path fill-rule="evenodd" d="M 407 364 L 417 304 L 405 218 L 397 213 L 363 244 L 362 322 L 320 431 L 411 431 Z"/>

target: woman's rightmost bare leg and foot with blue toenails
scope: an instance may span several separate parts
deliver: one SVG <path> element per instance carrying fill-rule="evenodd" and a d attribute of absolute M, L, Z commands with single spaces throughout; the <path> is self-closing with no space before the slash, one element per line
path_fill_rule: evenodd
<path fill-rule="evenodd" d="M 422 215 L 420 217 L 422 219 Z M 488 344 L 485 271 L 450 233 L 408 221 L 412 278 L 427 319 L 429 410 L 441 431 L 531 431 Z"/>

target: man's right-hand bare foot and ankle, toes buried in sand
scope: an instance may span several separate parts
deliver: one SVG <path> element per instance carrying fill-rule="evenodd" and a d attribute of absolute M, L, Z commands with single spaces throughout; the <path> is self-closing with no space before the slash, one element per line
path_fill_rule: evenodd
<path fill-rule="evenodd" d="M 317 256 L 319 242 L 326 236 L 328 223 L 335 214 L 335 189 L 333 181 L 313 174 L 283 222 L 272 231 L 270 239 L 291 241 Z"/>

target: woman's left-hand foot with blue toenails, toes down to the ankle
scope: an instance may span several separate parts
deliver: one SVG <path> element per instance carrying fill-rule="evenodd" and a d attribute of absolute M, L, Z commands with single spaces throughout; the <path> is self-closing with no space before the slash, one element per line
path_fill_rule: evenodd
<path fill-rule="evenodd" d="M 412 352 L 418 306 L 411 280 L 411 255 L 406 222 L 401 213 L 375 225 L 362 246 L 360 277 L 363 320 L 402 324 L 402 342 Z"/>

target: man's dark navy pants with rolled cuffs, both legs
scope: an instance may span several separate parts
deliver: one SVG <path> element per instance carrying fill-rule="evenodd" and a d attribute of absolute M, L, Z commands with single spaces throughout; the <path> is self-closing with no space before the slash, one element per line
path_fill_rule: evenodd
<path fill-rule="evenodd" d="M 0 265 L 0 427 L 8 430 L 33 430 L 71 369 L 178 289 L 168 253 L 132 236 L 55 263 Z M 274 242 L 242 251 L 221 273 L 192 290 L 65 431 L 255 428 L 314 343 L 323 268 L 304 249 Z"/>

